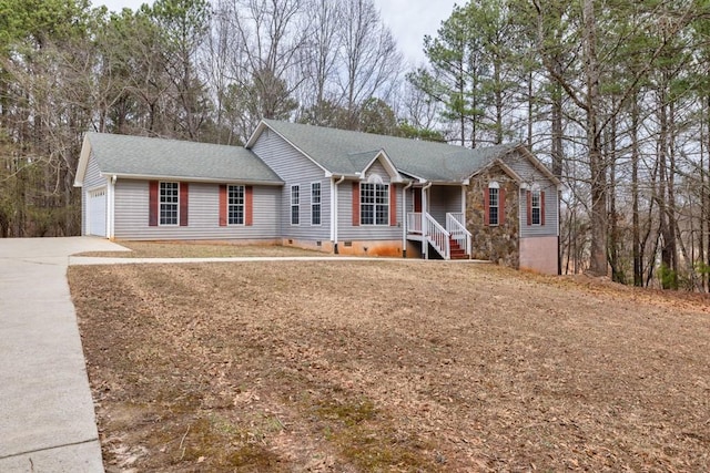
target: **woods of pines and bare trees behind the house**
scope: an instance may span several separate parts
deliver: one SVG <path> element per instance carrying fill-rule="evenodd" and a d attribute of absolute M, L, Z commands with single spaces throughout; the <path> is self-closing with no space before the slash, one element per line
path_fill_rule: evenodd
<path fill-rule="evenodd" d="M 83 133 L 243 144 L 261 117 L 526 143 L 562 274 L 708 291 L 710 1 L 474 0 L 404 63 L 373 0 L 0 0 L 0 235 L 78 235 Z"/>

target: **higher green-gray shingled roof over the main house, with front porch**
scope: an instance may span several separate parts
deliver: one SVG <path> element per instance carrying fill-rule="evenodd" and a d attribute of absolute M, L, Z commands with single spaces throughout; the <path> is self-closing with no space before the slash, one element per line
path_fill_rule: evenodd
<path fill-rule="evenodd" d="M 400 173 L 432 182 L 462 182 L 516 147 L 498 145 L 471 150 L 445 143 L 263 120 L 246 144 L 247 148 L 266 127 L 335 175 L 356 175 L 364 171 L 368 158 L 384 151 Z"/>

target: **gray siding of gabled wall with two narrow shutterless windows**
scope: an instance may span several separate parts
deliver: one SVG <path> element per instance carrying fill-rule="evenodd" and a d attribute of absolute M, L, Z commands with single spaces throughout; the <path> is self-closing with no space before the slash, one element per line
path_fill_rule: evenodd
<path fill-rule="evenodd" d="M 281 195 L 277 226 L 284 238 L 328 240 L 331 238 L 331 178 L 325 171 L 266 128 L 252 151 L 285 183 Z M 311 184 L 321 183 L 321 225 L 311 223 Z M 291 186 L 300 192 L 298 225 L 291 225 Z"/>

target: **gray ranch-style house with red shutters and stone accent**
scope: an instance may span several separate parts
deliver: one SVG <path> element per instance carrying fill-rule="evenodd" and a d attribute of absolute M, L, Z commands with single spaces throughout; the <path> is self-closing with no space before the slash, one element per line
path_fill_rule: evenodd
<path fill-rule="evenodd" d="M 560 182 L 523 145 L 263 120 L 245 146 L 87 133 L 82 233 L 476 258 L 557 274 Z"/>

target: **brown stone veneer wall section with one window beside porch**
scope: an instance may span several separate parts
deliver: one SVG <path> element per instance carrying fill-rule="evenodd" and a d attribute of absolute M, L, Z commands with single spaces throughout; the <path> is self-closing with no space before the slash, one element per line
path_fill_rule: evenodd
<path fill-rule="evenodd" d="M 485 225 L 484 191 L 488 191 L 491 181 L 497 181 L 506 192 L 504 225 Z M 473 258 L 519 268 L 520 203 L 517 184 L 503 169 L 494 166 L 470 179 L 466 199 L 466 227 L 471 233 Z"/>

